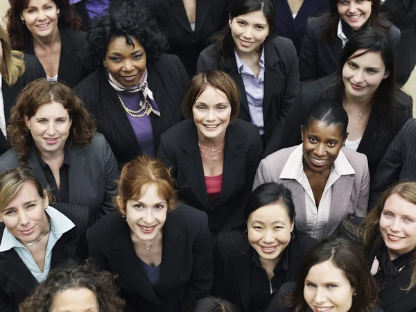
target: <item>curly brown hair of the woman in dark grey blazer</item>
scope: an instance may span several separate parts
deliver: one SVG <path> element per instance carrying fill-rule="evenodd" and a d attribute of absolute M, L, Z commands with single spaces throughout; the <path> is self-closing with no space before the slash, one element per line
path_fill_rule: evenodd
<path fill-rule="evenodd" d="M 10 145 L 16 149 L 21 166 L 24 166 L 33 142 L 31 131 L 26 127 L 24 117 L 31 119 L 39 107 L 52 102 L 61 103 L 71 118 L 72 125 L 67 146 L 77 144 L 86 147 L 94 137 L 96 121 L 69 87 L 44 78 L 35 80 L 29 83 L 17 97 L 7 128 Z"/>

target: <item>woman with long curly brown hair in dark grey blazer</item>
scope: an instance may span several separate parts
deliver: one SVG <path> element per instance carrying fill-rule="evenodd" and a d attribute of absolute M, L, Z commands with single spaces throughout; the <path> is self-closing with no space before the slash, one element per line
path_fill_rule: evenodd
<path fill-rule="evenodd" d="M 12 107 L 8 139 L 0 172 L 31 168 L 57 202 L 89 207 L 93 220 L 114 210 L 116 159 L 69 87 L 46 79 L 28 84 Z"/>

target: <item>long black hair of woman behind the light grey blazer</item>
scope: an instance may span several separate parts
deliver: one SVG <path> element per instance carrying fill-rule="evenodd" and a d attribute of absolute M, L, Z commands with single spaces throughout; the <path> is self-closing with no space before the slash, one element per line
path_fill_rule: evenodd
<path fill-rule="evenodd" d="M 395 118 L 395 109 L 400 103 L 397 98 L 398 87 L 396 85 L 395 49 L 388 37 L 376 29 L 360 31 L 352 36 L 347 44 L 345 44 L 338 62 L 336 94 L 340 101 L 343 101 L 345 95 L 345 85 L 343 82 L 344 64 L 348 60 L 354 59 L 351 55 L 358 50 L 365 50 L 365 52 L 355 55 L 354 58 L 358 58 L 370 51 L 379 52 L 385 64 L 385 71 L 390 73 L 387 78 L 381 80 L 372 98 L 373 103 L 377 103 L 377 105 L 372 107 L 372 110 L 376 110 L 376 114 L 381 121 L 376 134 L 383 137 L 385 132 L 392 127 Z"/>

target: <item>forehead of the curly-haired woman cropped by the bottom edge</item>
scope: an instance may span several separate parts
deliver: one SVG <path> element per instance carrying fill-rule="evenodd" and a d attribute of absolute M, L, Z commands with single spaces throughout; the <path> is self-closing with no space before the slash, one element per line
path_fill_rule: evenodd
<path fill-rule="evenodd" d="M 69 288 L 53 298 L 51 312 L 98 312 L 96 294 L 88 288 Z"/>

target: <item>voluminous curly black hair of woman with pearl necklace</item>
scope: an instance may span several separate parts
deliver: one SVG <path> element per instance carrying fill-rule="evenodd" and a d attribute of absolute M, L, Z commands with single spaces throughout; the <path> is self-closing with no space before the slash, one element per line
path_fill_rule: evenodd
<path fill-rule="evenodd" d="M 96 19 L 80 51 L 83 63 L 90 68 L 103 66 L 108 44 L 114 37 L 125 37 L 130 46 L 132 38 L 141 43 L 149 64 L 155 64 L 168 48 L 166 35 L 143 1 L 118 1 L 117 10 Z"/>

